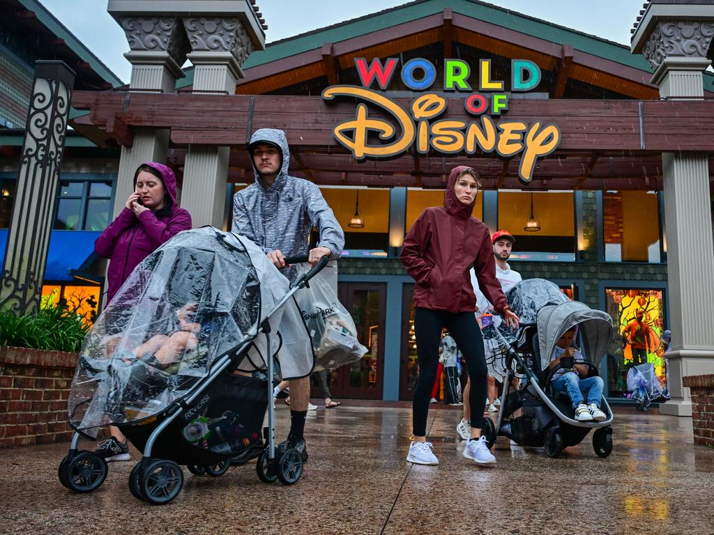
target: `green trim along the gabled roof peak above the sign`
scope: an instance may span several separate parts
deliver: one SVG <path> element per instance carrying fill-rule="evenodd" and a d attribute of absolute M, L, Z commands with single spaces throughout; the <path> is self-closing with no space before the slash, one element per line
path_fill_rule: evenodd
<path fill-rule="evenodd" d="M 375 14 L 363 16 L 359 19 L 288 37 L 287 39 L 267 44 L 264 51 L 254 51 L 248 57 L 246 63 L 243 64 L 243 68 L 248 69 L 278 61 L 288 56 L 301 54 L 302 52 L 320 49 L 325 43 L 346 41 L 373 31 L 390 28 L 416 19 L 423 19 L 426 16 L 441 13 L 444 9 L 451 9 L 454 13 L 503 26 L 552 43 L 569 44 L 574 49 L 587 54 L 638 68 L 641 71 L 652 72 L 652 68 L 650 68 L 650 64 L 647 63 L 644 56 L 631 54 L 629 46 L 585 34 L 578 30 L 565 28 L 564 26 L 558 26 L 548 21 L 535 19 L 532 16 L 520 14 L 516 11 L 508 11 L 478 0 L 416 0 L 409 4 L 378 11 Z M 191 85 L 193 83 L 193 74 L 191 73 L 190 81 L 187 76 L 184 78 L 183 83 Z M 714 91 L 714 76 L 710 73 L 704 74 L 704 86 L 708 91 Z"/>

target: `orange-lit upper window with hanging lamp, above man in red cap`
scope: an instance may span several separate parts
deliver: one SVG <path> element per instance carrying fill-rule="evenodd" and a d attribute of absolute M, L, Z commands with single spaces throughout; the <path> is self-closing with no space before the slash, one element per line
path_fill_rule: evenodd
<path fill-rule="evenodd" d="M 526 231 L 531 215 L 540 230 Z M 513 260 L 575 261 L 575 201 L 570 192 L 498 192 L 498 228 L 516 237 Z"/>

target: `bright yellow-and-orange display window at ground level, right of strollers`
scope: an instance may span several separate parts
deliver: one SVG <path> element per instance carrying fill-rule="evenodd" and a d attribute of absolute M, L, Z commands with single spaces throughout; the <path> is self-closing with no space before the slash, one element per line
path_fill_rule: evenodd
<path fill-rule="evenodd" d="M 610 397 L 632 397 L 628 373 L 634 365 L 649 365 L 661 385 L 666 384 L 664 347 L 660 336 L 664 329 L 662 290 L 605 290 L 606 310 L 613 318 L 615 332 L 607 362 Z M 631 382 L 631 381 L 630 381 Z"/>

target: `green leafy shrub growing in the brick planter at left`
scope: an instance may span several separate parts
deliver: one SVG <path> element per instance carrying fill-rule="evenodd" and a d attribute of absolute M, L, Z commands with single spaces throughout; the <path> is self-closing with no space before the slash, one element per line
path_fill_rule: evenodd
<path fill-rule="evenodd" d="M 88 330 L 89 322 L 63 300 L 24 316 L 0 310 L 0 345 L 76 353 Z"/>

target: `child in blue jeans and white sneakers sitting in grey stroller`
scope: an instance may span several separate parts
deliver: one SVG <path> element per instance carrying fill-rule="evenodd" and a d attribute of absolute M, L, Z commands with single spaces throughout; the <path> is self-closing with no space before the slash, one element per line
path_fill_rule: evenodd
<path fill-rule="evenodd" d="M 575 364 L 576 360 L 583 360 L 583 355 L 580 351 L 573 347 L 575 340 L 576 327 L 571 328 L 563 333 L 563 336 L 558 338 L 553 347 L 553 353 L 550 355 L 550 365 L 553 368 L 555 365 L 562 365 L 563 368 L 555 372 L 550 384 L 553 386 L 553 392 L 565 391 L 573 403 L 575 409 L 575 419 L 578 422 L 603 422 L 607 416 L 600 410 L 600 399 L 603 397 L 602 377 L 585 377 L 580 379 L 580 376 L 587 376 L 588 367 L 585 365 Z M 583 394 L 587 394 L 588 402 L 585 403 Z"/>

